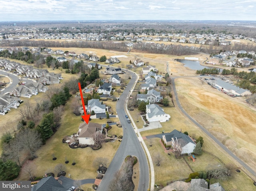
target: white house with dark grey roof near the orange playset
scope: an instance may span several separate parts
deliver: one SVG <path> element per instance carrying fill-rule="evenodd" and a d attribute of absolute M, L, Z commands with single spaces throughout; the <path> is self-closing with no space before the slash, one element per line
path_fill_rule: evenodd
<path fill-rule="evenodd" d="M 190 154 L 194 152 L 194 148 L 196 147 L 196 143 L 194 140 L 192 140 L 192 138 L 176 129 L 167 135 L 163 135 L 162 139 L 166 146 L 172 146 L 174 150 L 182 147 L 181 154 Z"/>

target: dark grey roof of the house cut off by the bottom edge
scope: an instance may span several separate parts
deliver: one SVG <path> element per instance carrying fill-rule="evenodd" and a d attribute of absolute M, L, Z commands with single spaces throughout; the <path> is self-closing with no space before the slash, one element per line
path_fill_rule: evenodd
<path fill-rule="evenodd" d="M 31 191 L 66 191 L 61 183 L 56 180 L 53 176 L 42 178 L 38 183 L 31 187 Z"/>

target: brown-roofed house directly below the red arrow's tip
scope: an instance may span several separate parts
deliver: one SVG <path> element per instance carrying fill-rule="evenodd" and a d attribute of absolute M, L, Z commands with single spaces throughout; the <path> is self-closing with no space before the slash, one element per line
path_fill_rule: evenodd
<path fill-rule="evenodd" d="M 96 132 L 102 133 L 102 124 L 83 122 L 78 127 L 78 141 L 80 145 L 94 145 L 94 135 Z"/>

